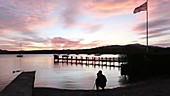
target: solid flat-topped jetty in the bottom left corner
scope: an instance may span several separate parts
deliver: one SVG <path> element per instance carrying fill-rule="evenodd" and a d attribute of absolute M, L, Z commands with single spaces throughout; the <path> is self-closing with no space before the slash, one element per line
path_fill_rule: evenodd
<path fill-rule="evenodd" d="M 0 93 L 0 96 L 33 96 L 35 71 L 22 72 Z"/>

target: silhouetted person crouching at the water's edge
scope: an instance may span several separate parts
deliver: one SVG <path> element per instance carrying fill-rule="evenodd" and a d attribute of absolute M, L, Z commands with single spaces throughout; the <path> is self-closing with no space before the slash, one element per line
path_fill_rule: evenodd
<path fill-rule="evenodd" d="M 102 71 L 100 70 L 97 73 L 97 78 L 96 78 L 96 89 L 99 90 L 99 87 L 102 88 L 102 90 L 104 90 L 104 87 L 106 86 L 106 76 L 102 74 Z"/>

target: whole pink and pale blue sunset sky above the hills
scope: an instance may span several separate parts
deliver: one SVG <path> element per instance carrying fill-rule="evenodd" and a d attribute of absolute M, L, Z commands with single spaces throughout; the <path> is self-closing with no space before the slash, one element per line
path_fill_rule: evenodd
<path fill-rule="evenodd" d="M 146 0 L 0 0 L 0 49 L 146 45 Z M 170 47 L 170 0 L 149 0 L 149 45 Z M 22 47 L 20 47 L 20 44 Z"/>

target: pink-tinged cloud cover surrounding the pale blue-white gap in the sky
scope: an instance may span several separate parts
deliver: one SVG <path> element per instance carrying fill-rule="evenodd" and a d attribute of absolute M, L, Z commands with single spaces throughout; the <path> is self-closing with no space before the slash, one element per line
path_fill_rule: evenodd
<path fill-rule="evenodd" d="M 0 42 L 3 42 L 0 48 L 17 50 L 16 46 L 21 41 L 25 47 L 35 48 L 43 48 L 44 45 L 48 45 L 44 48 L 97 46 L 99 41 L 82 44 L 81 40 L 73 41 L 60 36 L 44 38 L 37 30 L 57 23 L 63 29 L 81 26 L 86 34 L 97 33 L 104 25 L 90 20 L 84 24 L 84 17 L 96 19 L 132 14 L 134 8 L 143 3 L 143 0 L 0 0 Z M 150 38 L 170 37 L 169 5 L 170 0 L 149 1 Z M 141 22 L 144 18 L 140 15 L 138 19 L 140 22 L 135 22 L 137 25 L 132 31 L 143 36 L 145 20 Z"/>

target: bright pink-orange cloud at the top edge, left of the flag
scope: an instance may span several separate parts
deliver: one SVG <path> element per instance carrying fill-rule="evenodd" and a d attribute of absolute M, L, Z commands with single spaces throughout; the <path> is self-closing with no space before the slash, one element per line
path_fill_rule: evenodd
<path fill-rule="evenodd" d="M 132 13 L 143 0 L 89 0 L 85 3 L 85 13 L 94 17 L 110 17 L 114 15 Z"/>

